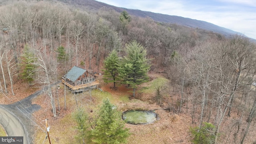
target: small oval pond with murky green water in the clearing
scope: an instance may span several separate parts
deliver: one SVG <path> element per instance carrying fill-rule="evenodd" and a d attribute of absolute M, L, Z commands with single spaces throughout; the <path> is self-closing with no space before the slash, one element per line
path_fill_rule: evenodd
<path fill-rule="evenodd" d="M 128 110 L 123 112 L 122 119 L 128 124 L 151 124 L 158 116 L 150 110 Z"/>

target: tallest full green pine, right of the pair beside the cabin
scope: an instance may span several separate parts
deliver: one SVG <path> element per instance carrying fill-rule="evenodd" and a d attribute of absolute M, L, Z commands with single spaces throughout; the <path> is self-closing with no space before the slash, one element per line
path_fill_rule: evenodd
<path fill-rule="evenodd" d="M 147 72 L 150 68 L 149 59 L 146 58 L 146 50 L 136 41 L 126 44 L 125 56 L 118 68 L 122 83 L 133 88 L 133 96 L 138 85 L 148 82 Z"/>

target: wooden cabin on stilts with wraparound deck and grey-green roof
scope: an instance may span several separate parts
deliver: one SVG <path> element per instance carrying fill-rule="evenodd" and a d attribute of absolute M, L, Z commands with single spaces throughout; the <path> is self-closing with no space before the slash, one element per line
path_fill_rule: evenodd
<path fill-rule="evenodd" d="M 85 69 L 74 66 L 62 77 L 62 83 L 74 92 L 83 92 L 90 88 L 97 88 L 100 82 L 94 74 Z"/>

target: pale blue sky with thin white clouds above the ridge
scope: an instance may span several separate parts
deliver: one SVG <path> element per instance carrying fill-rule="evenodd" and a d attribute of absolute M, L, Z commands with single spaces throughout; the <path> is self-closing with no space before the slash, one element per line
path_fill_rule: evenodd
<path fill-rule="evenodd" d="M 203 20 L 256 39 L 256 0 L 97 0 L 113 6 Z"/>

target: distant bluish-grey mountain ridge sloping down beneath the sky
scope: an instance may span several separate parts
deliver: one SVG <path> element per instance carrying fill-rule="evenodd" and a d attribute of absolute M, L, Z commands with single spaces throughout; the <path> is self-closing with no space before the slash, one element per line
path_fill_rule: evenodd
<path fill-rule="evenodd" d="M 239 32 L 235 32 L 233 30 L 223 28 L 223 27 L 217 26 L 215 24 L 201 21 L 201 20 L 194 20 L 191 18 L 184 18 L 181 16 L 170 16 L 167 14 L 159 14 L 159 13 L 154 13 L 154 12 L 146 12 L 146 11 L 142 11 L 142 10 L 119 8 L 116 6 L 105 4 L 103 2 L 98 2 L 96 0 L 58 0 L 58 1 L 65 2 L 65 3 L 73 5 L 73 6 L 78 6 L 78 7 L 83 6 L 88 9 L 91 9 L 91 10 L 99 10 L 102 7 L 112 8 L 112 9 L 116 10 L 117 12 L 122 12 L 122 11 L 126 10 L 130 15 L 133 15 L 133 16 L 140 16 L 140 17 L 148 16 L 158 22 L 167 22 L 167 23 L 172 23 L 172 24 L 188 26 L 188 27 L 192 27 L 192 28 L 200 28 L 200 29 L 209 30 L 212 32 L 218 32 L 226 37 L 230 37 L 231 35 L 234 35 L 234 34 L 243 35 Z"/>

